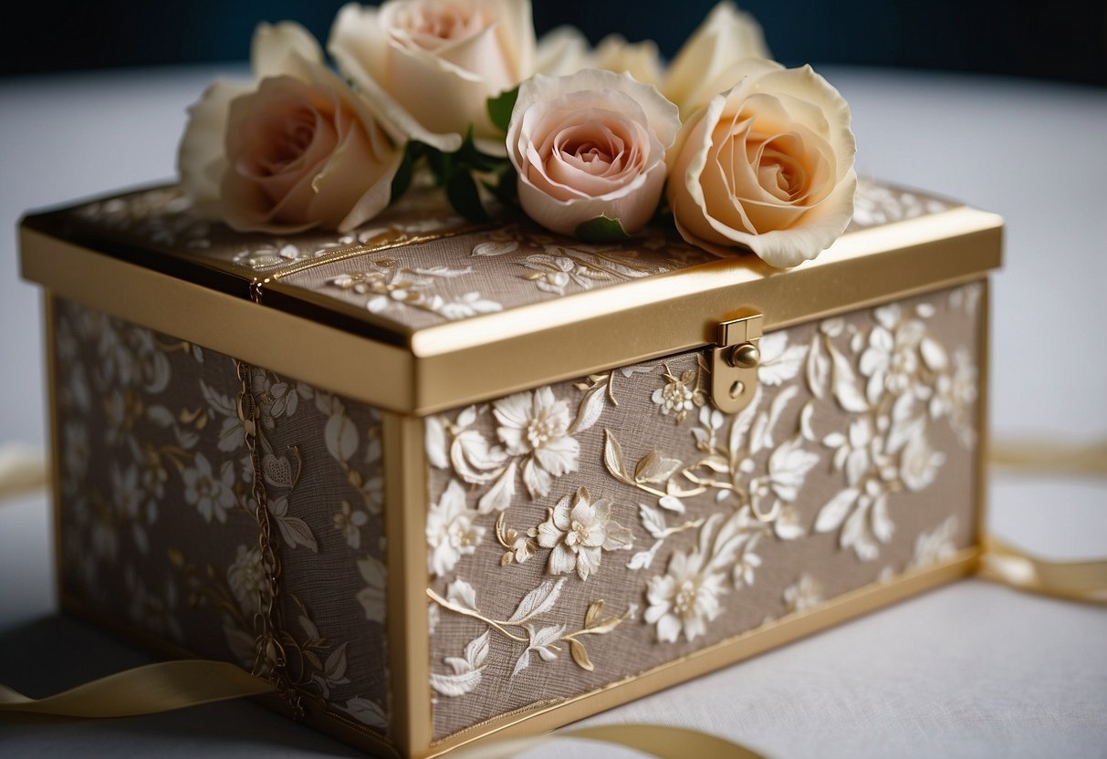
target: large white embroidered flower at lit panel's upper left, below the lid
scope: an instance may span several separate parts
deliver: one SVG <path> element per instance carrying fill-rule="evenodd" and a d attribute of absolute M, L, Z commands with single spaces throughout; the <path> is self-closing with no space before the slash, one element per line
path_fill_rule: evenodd
<path fill-rule="evenodd" d="M 569 435 L 569 404 L 549 387 L 501 398 L 493 412 L 507 453 L 527 457 L 523 481 L 531 497 L 548 496 L 554 478 L 577 470 L 580 445 Z"/>

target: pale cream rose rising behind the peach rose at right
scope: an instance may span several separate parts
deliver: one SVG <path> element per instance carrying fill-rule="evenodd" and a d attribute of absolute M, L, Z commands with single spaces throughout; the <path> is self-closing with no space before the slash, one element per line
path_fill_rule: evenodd
<path fill-rule="evenodd" d="M 721 92 L 715 89 L 720 74 L 739 61 L 768 58 L 772 55 L 761 24 L 730 0 L 723 0 L 677 51 L 661 92 L 686 118 Z"/>

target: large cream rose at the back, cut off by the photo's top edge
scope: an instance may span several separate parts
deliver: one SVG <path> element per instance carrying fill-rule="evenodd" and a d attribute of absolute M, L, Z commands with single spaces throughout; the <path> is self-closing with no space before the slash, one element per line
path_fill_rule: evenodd
<path fill-rule="evenodd" d="M 403 135 L 454 152 L 472 126 L 503 155 L 487 101 L 534 73 L 529 0 L 389 0 L 339 11 L 328 45 L 339 67 Z"/>

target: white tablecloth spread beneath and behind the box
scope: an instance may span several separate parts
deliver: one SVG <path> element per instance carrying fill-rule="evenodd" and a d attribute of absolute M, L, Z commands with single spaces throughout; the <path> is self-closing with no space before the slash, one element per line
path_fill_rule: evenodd
<path fill-rule="evenodd" d="M 1107 92 L 955 74 L 825 72 L 862 174 L 1007 219 L 993 298 L 997 437 L 1107 434 Z M 44 440 L 28 208 L 172 177 L 215 74 L 0 80 L 0 443 Z M 991 524 L 1058 558 L 1107 554 L 1107 484 L 1002 475 Z M 0 683 L 45 695 L 145 658 L 56 614 L 44 496 L 0 503 Z M 964 581 L 589 720 L 696 727 L 773 757 L 1107 756 L 1107 611 Z M 111 721 L 0 718 L 0 756 L 356 756 L 248 703 Z M 604 756 L 630 756 L 604 751 Z M 597 756 L 565 744 L 531 757 Z"/>

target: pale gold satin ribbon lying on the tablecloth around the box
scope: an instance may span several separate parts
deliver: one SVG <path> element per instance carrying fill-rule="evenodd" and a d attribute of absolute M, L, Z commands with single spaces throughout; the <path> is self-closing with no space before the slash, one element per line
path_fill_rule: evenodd
<path fill-rule="evenodd" d="M 1107 444 L 1087 448 L 1024 445 L 995 446 L 994 462 L 1067 474 L 1107 472 Z M 0 497 L 41 487 L 45 465 L 25 447 L 0 448 Z M 1035 593 L 1075 601 L 1107 603 L 1107 560 L 1046 561 L 991 537 L 983 540 L 980 576 Z M 45 698 L 29 698 L 0 685 L 0 714 L 64 717 L 128 717 L 188 706 L 259 696 L 276 688 L 234 664 L 186 659 L 148 664 L 86 683 Z M 509 738 L 463 748 L 456 759 L 508 759 L 557 738 L 615 744 L 660 759 L 758 759 L 761 755 L 717 736 L 662 725 L 610 725 L 558 730 L 530 738 Z"/>

